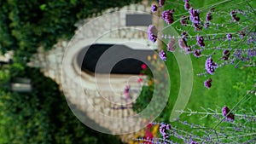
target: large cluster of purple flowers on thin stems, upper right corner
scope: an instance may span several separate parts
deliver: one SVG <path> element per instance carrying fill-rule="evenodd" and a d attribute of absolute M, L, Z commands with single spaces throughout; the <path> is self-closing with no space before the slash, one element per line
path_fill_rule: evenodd
<path fill-rule="evenodd" d="M 166 1 L 159 1 L 160 6 L 152 5 L 152 11 L 154 12 L 156 10 L 160 10 L 160 7 L 162 7 L 165 3 Z M 198 76 L 205 75 L 206 73 L 212 75 L 216 68 L 225 65 L 235 65 L 235 67 L 241 65 L 256 66 L 254 59 L 256 56 L 254 50 L 256 32 L 252 32 L 254 28 L 251 27 L 252 25 L 250 25 L 254 22 L 252 19 L 250 19 L 253 18 L 254 15 L 250 3 L 245 4 L 245 7 L 241 5 L 241 7 L 243 7 L 242 9 L 240 7 L 221 9 L 218 4 L 213 4 L 210 6 L 210 8 L 206 7 L 197 9 L 199 8 L 198 6 L 193 6 L 195 3 L 190 3 L 189 0 L 183 0 L 183 2 L 178 3 L 177 5 L 168 5 L 169 9 L 166 10 L 166 7 L 161 13 L 161 18 L 164 19 L 167 24 L 172 24 L 172 28 L 176 29 L 178 32 L 182 32 L 182 34 L 181 37 L 176 37 L 173 34 L 168 35 L 168 33 L 165 33 L 167 32 L 166 29 L 162 29 L 165 33 L 162 37 L 169 41 L 166 44 L 167 49 L 160 51 L 160 58 L 162 60 L 166 60 L 166 53 L 168 51 L 173 52 L 177 49 L 175 47 L 175 39 L 181 48 L 179 51 L 183 52 L 185 55 L 194 55 L 196 58 L 207 57 L 205 63 L 205 69 L 207 72 L 202 72 L 198 74 Z M 182 8 L 176 8 L 178 6 L 181 6 Z M 176 10 L 175 12 L 174 9 Z M 188 10 L 187 12 L 189 14 L 183 13 L 183 10 L 180 11 L 181 9 Z M 178 14 L 176 15 L 176 13 Z M 202 18 L 201 16 L 203 15 L 205 16 Z M 174 20 L 177 19 L 175 16 L 180 17 L 179 21 L 182 26 L 176 26 L 176 24 L 173 24 Z M 239 21 L 240 19 L 243 21 L 241 21 L 239 25 L 232 25 L 234 28 L 231 28 L 230 23 L 232 22 L 230 21 L 232 20 L 230 19 L 230 16 L 234 21 Z M 243 17 L 246 17 L 247 19 L 243 19 Z M 220 20 L 218 20 L 218 18 L 220 18 Z M 204 26 L 206 29 L 210 26 L 211 27 L 207 29 L 206 32 L 198 32 L 204 31 L 202 30 L 202 26 Z M 195 28 L 195 32 L 191 32 L 191 28 Z M 149 39 L 155 42 L 157 39 L 156 34 L 151 34 L 152 32 L 148 33 Z M 243 38 L 242 41 L 241 38 Z M 240 42 L 244 42 L 244 45 L 241 46 Z M 216 59 L 221 62 L 218 63 L 218 65 L 217 62 L 215 63 L 212 61 L 212 55 L 215 54 L 217 54 Z M 205 85 L 206 84 L 207 88 L 211 87 L 211 83 L 209 81 L 207 81 Z"/>

